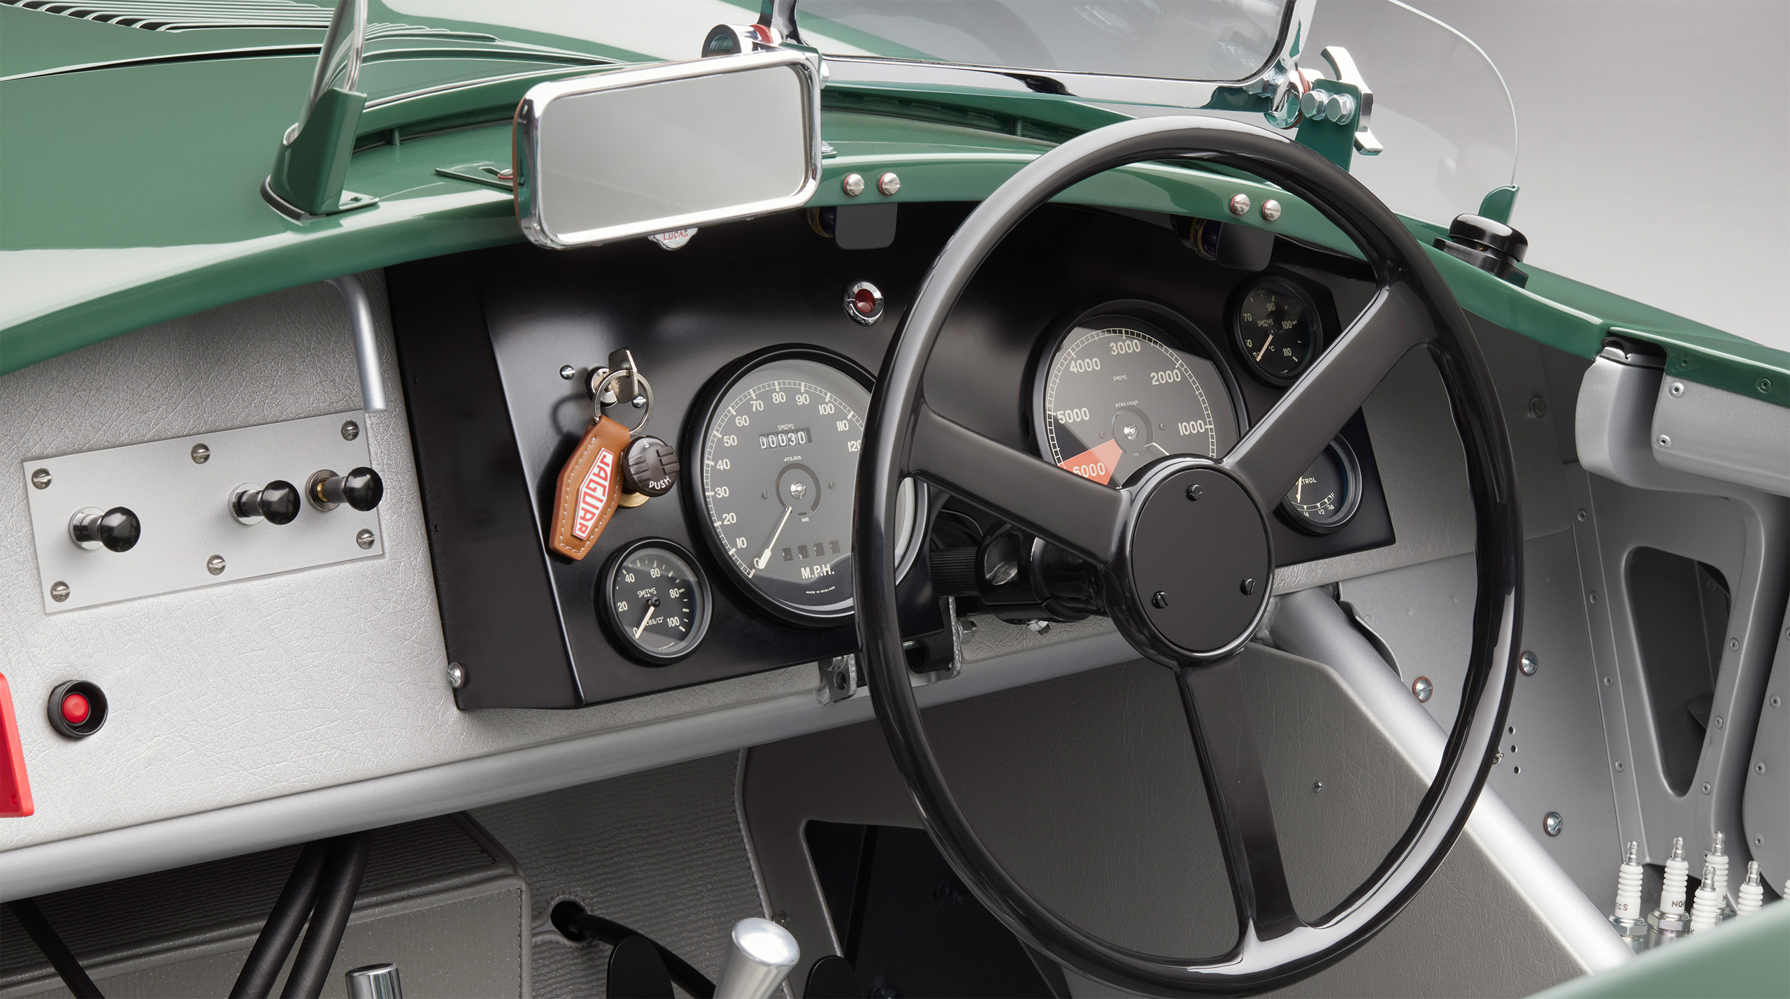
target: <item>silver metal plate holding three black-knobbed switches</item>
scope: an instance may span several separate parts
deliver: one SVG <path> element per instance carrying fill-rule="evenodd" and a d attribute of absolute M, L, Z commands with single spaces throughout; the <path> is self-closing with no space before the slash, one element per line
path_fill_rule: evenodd
<path fill-rule="evenodd" d="M 303 491 L 319 471 L 371 464 L 360 412 L 27 460 L 20 471 L 43 609 L 59 614 L 383 555 L 378 508 L 319 510 L 306 501 L 292 523 L 243 525 L 229 505 L 240 485 L 285 480 Z M 77 510 L 115 507 L 136 514 L 136 544 L 75 544 L 68 521 Z"/>

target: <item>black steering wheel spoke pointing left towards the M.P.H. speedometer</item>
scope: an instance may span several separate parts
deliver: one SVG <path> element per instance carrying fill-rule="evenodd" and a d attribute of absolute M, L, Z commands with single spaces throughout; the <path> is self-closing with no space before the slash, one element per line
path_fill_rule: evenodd
<path fill-rule="evenodd" d="M 908 451 L 913 474 L 1095 566 L 1112 564 L 1131 501 L 1128 492 L 990 440 L 925 403 L 913 419 Z"/>

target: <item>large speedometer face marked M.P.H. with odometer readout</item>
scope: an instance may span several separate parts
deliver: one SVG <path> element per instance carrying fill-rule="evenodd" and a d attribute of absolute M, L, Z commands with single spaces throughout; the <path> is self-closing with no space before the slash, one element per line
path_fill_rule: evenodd
<path fill-rule="evenodd" d="M 795 619 L 852 612 L 852 492 L 870 376 L 811 349 L 750 358 L 712 396 L 693 478 L 711 551 L 754 600 Z M 897 523 L 913 557 L 915 485 Z"/>

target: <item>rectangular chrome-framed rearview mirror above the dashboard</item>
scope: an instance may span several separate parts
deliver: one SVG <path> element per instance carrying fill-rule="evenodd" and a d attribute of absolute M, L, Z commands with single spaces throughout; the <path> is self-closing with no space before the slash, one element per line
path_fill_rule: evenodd
<path fill-rule="evenodd" d="M 820 186 L 820 79 L 797 50 L 535 86 L 516 109 L 516 217 L 567 249 L 797 208 Z"/>

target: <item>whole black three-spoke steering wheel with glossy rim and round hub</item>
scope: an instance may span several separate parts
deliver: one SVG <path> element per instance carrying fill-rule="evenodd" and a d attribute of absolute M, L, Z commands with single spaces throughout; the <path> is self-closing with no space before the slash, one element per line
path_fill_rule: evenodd
<path fill-rule="evenodd" d="M 1348 331 L 1221 460 L 1158 458 L 1124 489 L 1058 469 L 934 412 L 922 394 L 927 358 L 993 247 L 1063 188 L 1113 166 L 1171 158 L 1246 170 L 1341 227 L 1378 285 Z M 1419 346 L 1448 388 L 1473 492 L 1471 664 L 1441 770 L 1416 818 L 1366 883 L 1323 918 L 1305 922 L 1287 890 L 1237 653 L 1260 627 L 1273 591 L 1267 510 Z M 877 718 L 933 841 L 1020 938 L 1131 992 L 1264 992 L 1344 958 L 1423 888 L 1466 825 L 1495 759 L 1522 630 L 1523 534 L 1504 419 L 1466 315 L 1418 242 L 1368 188 L 1282 134 L 1219 118 L 1142 118 L 1065 141 L 995 190 L 945 243 L 882 363 L 865 435 L 872 444 L 857 471 L 857 634 Z M 895 491 L 908 474 L 1087 560 L 1126 641 L 1174 670 L 1237 906 L 1239 936 L 1228 952 L 1167 958 L 1094 936 L 1013 881 L 970 829 L 927 745 L 902 657 L 891 528 Z"/>

